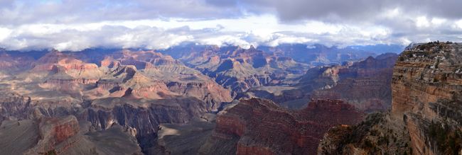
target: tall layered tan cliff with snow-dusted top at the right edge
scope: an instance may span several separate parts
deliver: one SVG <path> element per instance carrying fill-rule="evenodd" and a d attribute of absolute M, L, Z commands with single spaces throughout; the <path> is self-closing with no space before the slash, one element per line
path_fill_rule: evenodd
<path fill-rule="evenodd" d="M 442 42 L 417 45 L 400 55 L 393 73 L 392 114 L 409 127 L 413 152 L 453 154 L 461 149 L 462 144 L 443 147 L 449 139 L 462 139 L 461 61 L 462 46 Z"/>

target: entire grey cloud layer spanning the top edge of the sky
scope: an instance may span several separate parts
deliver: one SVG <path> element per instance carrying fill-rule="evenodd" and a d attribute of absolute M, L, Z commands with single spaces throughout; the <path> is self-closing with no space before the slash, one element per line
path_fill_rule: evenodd
<path fill-rule="evenodd" d="M 275 13 L 286 22 L 365 22 L 394 8 L 429 17 L 462 18 L 461 0 L 6 0 L 0 4 L 0 24 L 239 18 L 245 13 Z"/>

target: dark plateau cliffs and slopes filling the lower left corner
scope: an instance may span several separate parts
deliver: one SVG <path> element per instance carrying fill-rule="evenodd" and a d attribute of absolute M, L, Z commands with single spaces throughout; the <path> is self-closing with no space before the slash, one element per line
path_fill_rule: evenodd
<path fill-rule="evenodd" d="M 208 112 L 207 105 L 203 101 L 185 97 L 166 100 L 104 98 L 70 106 L 59 104 L 45 106 L 43 103 L 24 99 L 21 96 L 11 96 L 6 99 L 9 101 L 0 103 L 2 117 L 0 125 L 11 125 L 11 121 L 16 119 L 31 120 L 31 123 L 35 123 L 30 124 L 31 127 L 27 126 L 27 129 L 34 131 L 31 137 L 38 135 L 35 139 L 30 139 L 38 143 L 31 144 L 29 148 L 11 150 L 12 152 L 27 151 L 26 154 L 48 151 L 59 154 L 64 152 L 94 154 L 95 151 L 99 154 L 114 154 L 109 150 L 123 145 L 131 148 L 119 150 L 127 154 L 141 154 L 139 146 L 145 150 L 145 153 L 149 153 L 151 147 L 156 145 L 158 126 L 161 123 L 183 124 L 193 117 L 200 117 Z M 20 121 L 18 125 L 20 124 L 24 123 Z M 114 129 L 114 125 L 120 127 Z M 6 128 L 10 131 L 9 129 Z M 24 139 L 21 140 L 21 144 L 24 144 L 24 147 L 29 146 L 30 142 L 25 141 L 28 138 L 21 137 L 16 132 L 12 133 L 12 136 L 11 138 L 17 136 Z M 111 144 L 116 146 L 104 143 L 105 139 L 112 139 L 111 142 L 114 143 Z M 6 145 L 11 144 L 0 142 L 0 146 Z"/>

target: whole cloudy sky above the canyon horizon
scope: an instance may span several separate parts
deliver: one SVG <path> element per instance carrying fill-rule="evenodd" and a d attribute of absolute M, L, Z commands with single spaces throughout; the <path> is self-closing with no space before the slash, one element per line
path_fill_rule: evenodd
<path fill-rule="evenodd" d="M 0 47 L 461 42 L 461 6 L 461 0 L 0 0 Z"/>

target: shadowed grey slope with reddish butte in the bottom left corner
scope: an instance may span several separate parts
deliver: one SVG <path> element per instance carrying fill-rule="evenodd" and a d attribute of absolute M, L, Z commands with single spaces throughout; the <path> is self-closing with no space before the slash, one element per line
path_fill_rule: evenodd
<path fill-rule="evenodd" d="M 74 116 L 6 120 L 0 137 L 2 154 L 141 154 L 136 139 L 122 127 L 85 134 Z"/>

